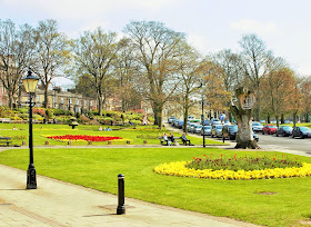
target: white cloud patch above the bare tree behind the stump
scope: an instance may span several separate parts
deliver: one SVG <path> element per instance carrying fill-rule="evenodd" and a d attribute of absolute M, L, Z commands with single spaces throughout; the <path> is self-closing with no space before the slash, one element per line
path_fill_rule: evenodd
<path fill-rule="evenodd" d="M 273 22 L 260 22 L 255 20 L 244 19 L 230 24 L 231 29 L 242 32 L 255 32 L 260 34 L 277 34 L 278 28 Z"/>

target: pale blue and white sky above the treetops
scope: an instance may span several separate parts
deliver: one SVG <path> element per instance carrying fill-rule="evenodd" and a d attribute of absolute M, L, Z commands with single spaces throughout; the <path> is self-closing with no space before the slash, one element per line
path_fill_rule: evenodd
<path fill-rule="evenodd" d="M 33 27 L 54 19 L 73 39 L 98 27 L 121 36 L 131 21 L 160 21 L 184 32 L 203 56 L 223 49 L 238 52 L 242 36 L 257 33 L 298 75 L 310 76 L 310 0 L 0 0 L 0 19 Z"/>

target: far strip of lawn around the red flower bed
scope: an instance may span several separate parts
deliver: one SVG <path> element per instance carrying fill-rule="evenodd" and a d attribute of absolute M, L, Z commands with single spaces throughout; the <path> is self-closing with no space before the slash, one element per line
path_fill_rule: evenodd
<path fill-rule="evenodd" d="M 12 130 L 17 126 L 18 130 Z M 112 145 L 126 145 L 127 140 L 132 145 L 143 145 L 147 140 L 149 145 L 159 145 L 159 136 L 163 136 L 163 132 L 169 130 L 159 130 L 154 126 L 139 126 L 137 129 L 126 128 L 124 130 L 117 130 L 120 127 L 112 127 L 112 131 L 99 131 L 99 126 L 86 126 L 79 125 L 76 129 L 71 129 L 68 125 L 33 125 L 33 145 L 43 146 L 46 141 L 50 145 L 67 145 L 63 141 L 57 141 L 48 139 L 44 136 L 61 136 L 61 135 L 89 135 L 89 136 L 117 136 L 123 138 L 121 141 L 112 141 Z M 107 126 L 106 126 L 107 128 Z M 0 137 L 12 137 L 13 145 L 21 145 L 22 140 L 28 141 L 28 124 L 1 124 L 0 125 Z M 175 137 L 180 137 L 181 134 L 174 134 Z M 188 136 L 191 144 L 202 145 L 202 139 L 197 137 Z M 208 145 L 221 145 L 221 141 L 209 140 Z M 84 146 L 88 141 L 72 141 L 72 146 Z M 92 145 L 108 145 L 108 142 L 93 142 Z"/>

